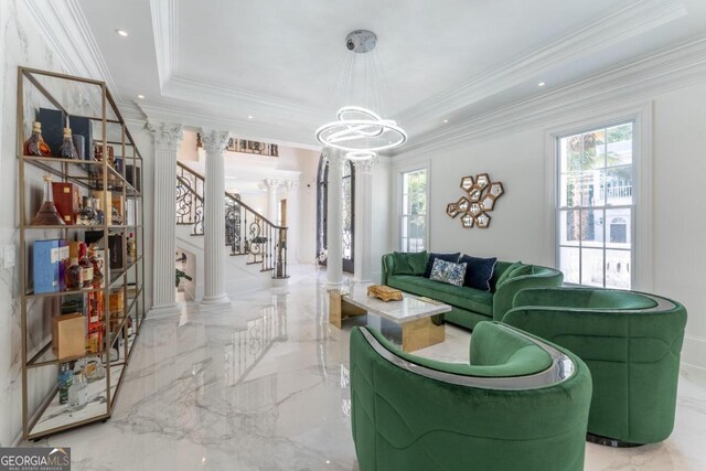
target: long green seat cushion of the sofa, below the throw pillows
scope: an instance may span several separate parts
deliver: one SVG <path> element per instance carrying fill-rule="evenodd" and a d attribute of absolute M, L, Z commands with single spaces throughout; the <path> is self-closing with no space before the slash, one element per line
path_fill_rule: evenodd
<path fill-rule="evenodd" d="M 456 308 L 493 315 L 493 293 L 464 286 L 445 285 L 411 275 L 392 276 L 387 285 L 413 295 L 436 299 Z"/>

